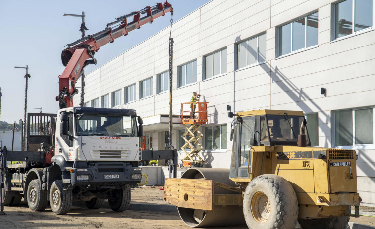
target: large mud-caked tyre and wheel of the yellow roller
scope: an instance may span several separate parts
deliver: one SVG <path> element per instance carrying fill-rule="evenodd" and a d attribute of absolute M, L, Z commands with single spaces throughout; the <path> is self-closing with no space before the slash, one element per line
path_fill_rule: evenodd
<path fill-rule="evenodd" d="M 292 185 L 284 178 L 265 174 L 246 187 L 243 213 L 251 229 L 293 229 L 298 218 L 298 201 Z"/>

